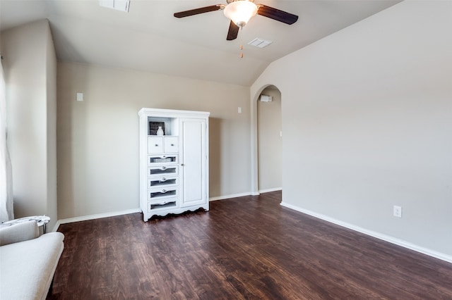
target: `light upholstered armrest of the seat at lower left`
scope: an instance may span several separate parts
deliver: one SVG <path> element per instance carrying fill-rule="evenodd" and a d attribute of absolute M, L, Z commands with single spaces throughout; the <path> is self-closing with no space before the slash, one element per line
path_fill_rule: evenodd
<path fill-rule="evenodd" d="M 36 221 L 27 221 L 10 226 L 0 225 L 0 246 L 35 239 L 39 235 Z"/>

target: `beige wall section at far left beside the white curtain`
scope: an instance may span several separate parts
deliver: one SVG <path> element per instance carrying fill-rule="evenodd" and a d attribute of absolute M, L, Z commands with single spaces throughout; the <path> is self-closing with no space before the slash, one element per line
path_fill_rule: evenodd
<path fill-rule="evenodd" d="M 1 32 L 16 218 L 57 221 L 57 58 L 47 20 Z"/>

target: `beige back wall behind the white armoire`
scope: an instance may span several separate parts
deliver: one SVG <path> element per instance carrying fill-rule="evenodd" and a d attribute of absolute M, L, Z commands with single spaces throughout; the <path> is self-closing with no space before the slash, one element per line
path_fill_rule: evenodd
<path fill-rule="evenodd" d="M 249 193 L 249 87 L 59 63 L 59 219 L 138 209 L 143 107 L 210 111 L 210 197 Z"/>

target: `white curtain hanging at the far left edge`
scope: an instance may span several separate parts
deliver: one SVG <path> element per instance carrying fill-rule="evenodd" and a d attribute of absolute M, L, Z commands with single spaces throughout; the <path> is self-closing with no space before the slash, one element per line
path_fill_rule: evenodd
<path fill-rule="evenodd" d="M 0 222 L 13 218 L 13 176 L 6 146 L 6 85 L 0 59 Z"/>

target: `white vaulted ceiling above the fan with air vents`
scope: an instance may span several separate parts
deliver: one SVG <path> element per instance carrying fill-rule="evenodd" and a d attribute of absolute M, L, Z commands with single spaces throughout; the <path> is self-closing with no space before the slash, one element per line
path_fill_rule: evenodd
<path fill-rule="evenodd" d="M 97 0 L 0 0 L 0 28 L 47 18 L 59 61 L 249 86 L 272 61 L 398 2 L 256 0 L 299 19 L 286 25 L 256 15 L 242 32 L 244 58 L 240 35 L 226 40 L 229 20 L 222 11 L 173 16 L 225 0 L 131 0 L 129 13 L 101 7 Z M 273 44 L 263 49 L 247 45 L 256 37 Z"/>

